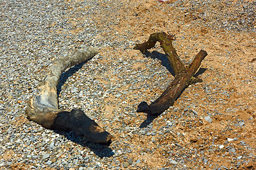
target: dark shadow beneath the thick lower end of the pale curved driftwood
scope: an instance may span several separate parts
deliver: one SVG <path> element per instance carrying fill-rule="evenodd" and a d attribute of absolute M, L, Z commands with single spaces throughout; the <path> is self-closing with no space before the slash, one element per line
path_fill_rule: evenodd
<path fill-rule="evenodd" d="M 82 147 L 89 147 L 92 152 L 94 152 L 98 157 L 112 157 L 114 155 L 114 152 L 109 147 L 110 143 L 107 144 L 97 144 L 94 142 L 90 142 L 85 137 L 80 137 L 74 134 L 74 132 L 63 132 L 54 130 L 54 132 L 64 135 L 68 140 L 75 142 L 78 145 L 81 145 Z"/>

